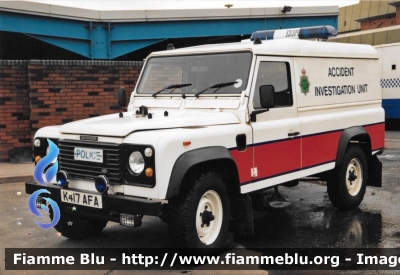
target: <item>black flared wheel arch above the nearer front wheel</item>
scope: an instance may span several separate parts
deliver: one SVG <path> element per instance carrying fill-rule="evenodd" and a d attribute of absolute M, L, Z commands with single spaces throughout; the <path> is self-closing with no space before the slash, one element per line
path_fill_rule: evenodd
<path fill-rule="evenodd" d="M 195 171 L 209 169 L 222 176 L 230 192 L 240 192 L 239 173 L 229 150 L 222 146 L 198 148 L 183 153 L 175 161 L 168 184 L 166 199 L 179 194 L 184 180 Z"/>

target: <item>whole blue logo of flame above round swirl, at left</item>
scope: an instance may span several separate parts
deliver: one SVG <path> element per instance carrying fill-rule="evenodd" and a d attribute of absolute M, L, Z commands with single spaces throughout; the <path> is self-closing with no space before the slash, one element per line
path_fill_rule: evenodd
<path fill-rule="evenodd" d="M 47 139 L 47 142 L 49 144 L 48 153 L 44 158 L 42 158 L 36 164 L 35 170 L 33 171 L 33 178 L 37 183 L 43 186 L 49 184 L 54 179 L 58 171 L 57 157 L 59 154 L 59 149 L 51 140 Z M 51 194 L 50 191 L 46 189 L 40 189 L 33 192 L 28 199 L 29 210 L 33 215 L 39 218 L 43 218 L 43 215 L 37 209 L 36 201 L 38 196 L 42 193 Z M 54 200 L 45 197 L 42 197 L 42 199 L 45 200 L 48 203 L 48 205 L 50 205 L 53 211 L 53 220 L 50 223 L 42 223 L 40 221 L 35 220 L 35 223 L 42 229 L 49 229 L 55 226 L 60 220 L 60 208 L 58 207 L 57 203 Z M 45 204 L 42 204 L 40 208 L 46 213 L 49 213 L 49 208 Z"/>

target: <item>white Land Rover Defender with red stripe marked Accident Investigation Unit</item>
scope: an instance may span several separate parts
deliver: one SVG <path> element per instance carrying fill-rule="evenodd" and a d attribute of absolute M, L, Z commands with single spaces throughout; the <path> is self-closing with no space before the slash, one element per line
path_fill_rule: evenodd
<path fill-rule="evenodd" d="M 228 230 L 251 234 L 265 190 L 279 199 L 277 186 L 311 175 L 327 181 L 334 206 L 357 207 L 367 185 L 381 186 L 378 55 L 304 39 L 335 34 L 259 31 L 151 54 L 125 112 L 37 131 L 34 155 L 44 157 L 52 140 L 59 172 L 26 192 L 51 192 L 61 210 L 55 228 L 68 238 L 150 215 L 168 224 L 173 245 L 192 248 L 222 246 Z"/>

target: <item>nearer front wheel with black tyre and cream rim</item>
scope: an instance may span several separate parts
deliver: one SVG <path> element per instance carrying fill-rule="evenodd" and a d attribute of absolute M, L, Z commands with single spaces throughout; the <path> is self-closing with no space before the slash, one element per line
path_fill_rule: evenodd
<path fill-rule="evenodd" d="M 184 248 L 220 248 L 230 220 L 228 191 L 213 172 L 202 175 L 183 188 L 168 205 L 168 233 L 171 243 Z"/>

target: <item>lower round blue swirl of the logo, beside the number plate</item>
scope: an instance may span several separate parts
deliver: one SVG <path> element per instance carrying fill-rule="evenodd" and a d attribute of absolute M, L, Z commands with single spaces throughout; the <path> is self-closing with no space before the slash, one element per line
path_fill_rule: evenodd
<path fill-rule="evenodd" d="M 29 210 L 32 212 L 33 215 L 35 215 L 36 217 L 40 217 L 40 218 L 43 218 L 43 215 L 40 214 L 39 210 L 36 208 L 36 199 L 42 193 L 51 194 L 51 192 L 46 189 L 40 189 L 40 190 L 36 190 L 35 192 L 33 192 L 32 195 L 28 199 Z M 50 204 L 50 206 L 53 210 L 53 220 L 50 223 L 41 223 L 41 222 L 35 220 L 35 223 L 42 229 L 49 229 L 49 228 L 52 228 L 53 226 L 55 226 L 59 222 L 60 208 L 58 207 L 57 203 L 55 201 L 53 201 L 52 199 L 50 199 L 50 198 L 43 198 L 43 199 L 46 200 Z M 42 204 L 41 209 L 43 211 L 45 211 L 46 213 L 49 213 L 49 208 L 46 205 Z"/>

